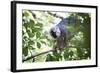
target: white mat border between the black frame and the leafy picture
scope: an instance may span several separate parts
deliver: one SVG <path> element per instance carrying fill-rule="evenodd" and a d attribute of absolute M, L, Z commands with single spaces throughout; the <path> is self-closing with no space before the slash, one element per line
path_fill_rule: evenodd
<path fill-rule="evenodd" d="M 95 65 L 96 57 L 96 10 L 94 8 L 80 8 L 80 7 L 61 7 L 61 6 L 45 6 L 45 5 L 28 5 L 17 4 L 17 70 L 22 69 L 38 69 L 51 67 L 72 67 L 72 66 L 86 66 Z M 45 62 L 45 63 L 22 63 L 22 9 L 29 10 L 49 10 L 49 11 L 66 11 L 66 12 L 83 12 L 91 13 L 91 60 L 81 61 L 64 61 L 64 62 Z"/>

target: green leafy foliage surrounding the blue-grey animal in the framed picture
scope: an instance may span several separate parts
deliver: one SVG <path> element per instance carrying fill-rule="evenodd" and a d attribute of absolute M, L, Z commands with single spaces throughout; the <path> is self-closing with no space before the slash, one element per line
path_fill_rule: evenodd
<path fill-rule="evenodd" d="M 62 12 L 51 13 L 59 15 Z M 26 59 L 32 55 L 54 49 L 55 41 L 46 31 L 52 25 L 57 24 L 56 20 L 60 20 L 60 18 L 48 11 L 23 10 L 22 14 L 22 58 Z M 69 24 L 67 27 L 74 35 L 67 41 L 64 50 L 62 52 L 59 50 L 48 52 L 25 62 L 87 60 L 91 58 L 90 14 L 74 12 L 64 12 L 63 14 L 66 17 L 74 16 L 79 19 L 75 24 Z"/>

